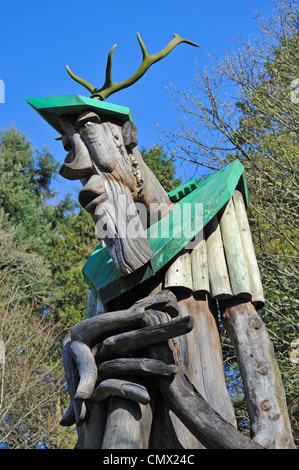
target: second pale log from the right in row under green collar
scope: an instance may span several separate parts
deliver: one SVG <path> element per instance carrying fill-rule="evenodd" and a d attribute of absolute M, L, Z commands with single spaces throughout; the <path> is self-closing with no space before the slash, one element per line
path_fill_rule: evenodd
<path fill-rule="evenodd" d="M 223 209 L 220 229 L 233 295 L 251 300 L 251 286 L 232 198 Z"/>

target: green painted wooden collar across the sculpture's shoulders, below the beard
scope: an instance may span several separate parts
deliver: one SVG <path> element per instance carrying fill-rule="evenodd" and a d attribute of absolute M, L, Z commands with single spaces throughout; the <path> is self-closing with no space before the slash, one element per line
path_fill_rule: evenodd
<path fill-rule="evenodd" d="M 98 246 L 92 253 L 83 267 L 83 275 L 103 303 L 154 276 L 219 212 L 237 186 L 248 204 L 244 167 L 239 160 L 202 181 L 192 180 L 188 189 L 187 186 L 182 185 L 171 192 L 177 202 L 168 214 L 147 229 L 147 238 L 153 250 L 152 259 L 147 265 L 119 277 L 106 247 Z M 183 197 L 179 196 L 180 193 Z"/>

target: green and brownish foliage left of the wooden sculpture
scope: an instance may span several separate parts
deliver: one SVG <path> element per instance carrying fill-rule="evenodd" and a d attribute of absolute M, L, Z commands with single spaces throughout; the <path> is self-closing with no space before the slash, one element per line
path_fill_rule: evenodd
<path fill-rule="evenodd" d="M 15 128 L 0 139 L 0 441 L 74 446 L 58 425 L 67 406 L 60 343 L 84 314 L 93 227 L 69 196 L 49 204 L 59 165 L 48 150 L 33 151 Z"/>

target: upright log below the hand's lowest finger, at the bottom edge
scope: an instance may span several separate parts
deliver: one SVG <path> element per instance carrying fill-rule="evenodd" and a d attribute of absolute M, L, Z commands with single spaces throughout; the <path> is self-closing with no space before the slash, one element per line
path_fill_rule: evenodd
<path fill-rule="evenodd" d="M 119 397 L 109 399 L 102 449 L 148 449 L 152 424 L 150 404 Z"/>

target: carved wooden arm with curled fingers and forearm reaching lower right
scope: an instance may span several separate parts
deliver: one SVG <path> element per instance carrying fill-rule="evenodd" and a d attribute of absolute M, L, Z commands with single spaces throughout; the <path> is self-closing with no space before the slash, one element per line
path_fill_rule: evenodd
<path fill-rule="evenodd" d="M 116 395 L 148 403 L 150 397 L 145 387 L 122 379 L 123 375 L 127 379 L 130 375 L 146 374 L 155 376 L 169 408 L 207 448 L 262 448 L 222 418 L 190 383 L 171 338 L 188 333 L 192 329 L 192 318 L 169 318 L 177 314 L 174 294 L 161 291 L 127 311 L 101 314 L 75 325 L 72 340 L 69 337 L 64 345 L 66 375 L 68 371 L 73 395 L 61 424 L 82 423 L 85 400 L 101 401 Z M 131 330 L 120 332 L 121 328 L 130 327 Z M 98 342 L 100 337 L 104 340 Z M 145 347 L 150 358 L 115 358 Z M 77 387 L 72 385 L 76 373 L 70 370 L 71 360 L 77 364 Z"/>

